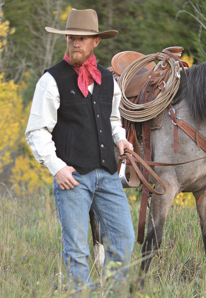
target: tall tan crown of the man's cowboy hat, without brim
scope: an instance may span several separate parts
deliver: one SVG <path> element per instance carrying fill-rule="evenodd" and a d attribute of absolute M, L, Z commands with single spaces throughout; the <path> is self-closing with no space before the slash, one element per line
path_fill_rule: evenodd
<path fill-rule="evenodd" d="M 93 9 L 77 10 L 72 8 L 69 12 L 66 30 L 86 30 L 98 33 L 98 17 Z"/>

